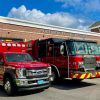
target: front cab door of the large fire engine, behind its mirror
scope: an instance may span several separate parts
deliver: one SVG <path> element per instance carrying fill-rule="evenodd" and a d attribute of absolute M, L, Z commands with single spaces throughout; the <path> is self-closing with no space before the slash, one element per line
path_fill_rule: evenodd
<path fill-rule="evenodd" d="M 67 47 L 65 42 L 56 45 L 54 49 L 55 54 L 55 65 L 58 67 L 61 76 L 68 77 L 69 67 L 68 67 L 68 55 Z"/>

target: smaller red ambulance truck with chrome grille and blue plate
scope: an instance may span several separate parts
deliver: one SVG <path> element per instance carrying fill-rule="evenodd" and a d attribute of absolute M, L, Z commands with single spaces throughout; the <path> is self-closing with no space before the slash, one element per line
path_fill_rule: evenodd
<path fill-rule="evenodd" d="M 51 67 L 26 53 L 22 42 L 0 42 L 0 85 L 8 95 L 17 90 L 49 87 Z"/>

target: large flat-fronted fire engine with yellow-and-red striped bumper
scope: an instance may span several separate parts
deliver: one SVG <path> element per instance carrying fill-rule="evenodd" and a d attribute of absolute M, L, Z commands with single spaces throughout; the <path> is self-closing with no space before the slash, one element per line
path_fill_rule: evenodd
<path fill-rule="evenodd" d="M 27 43 L 27 52 L 36 59 L 49 63 L 52 80 L 100 77 L 100 58 L 97 43 L 88 40 L 57 39 L 32 40 Z"/>

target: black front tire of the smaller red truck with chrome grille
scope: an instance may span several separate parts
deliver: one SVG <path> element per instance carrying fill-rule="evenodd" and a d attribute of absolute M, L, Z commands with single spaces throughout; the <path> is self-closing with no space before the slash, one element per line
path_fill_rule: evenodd
<path fill-rule="evenodd" d="M 16 86 L 14 85 L 13 80 L 11 80 L 9 77 L 6 77 L 4 79 L 4 90 L 9 96 L 12 96 L 15 94 Z"/>

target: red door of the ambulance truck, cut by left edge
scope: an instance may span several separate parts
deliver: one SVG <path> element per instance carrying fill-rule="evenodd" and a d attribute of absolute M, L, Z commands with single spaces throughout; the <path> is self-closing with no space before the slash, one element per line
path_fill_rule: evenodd
<path fill-rule="evenodd" d="M 0 54 L 0 85 L 3 84 L 3 75 L 4 75 L 4 59 Z"/>

